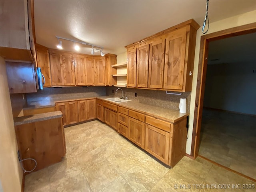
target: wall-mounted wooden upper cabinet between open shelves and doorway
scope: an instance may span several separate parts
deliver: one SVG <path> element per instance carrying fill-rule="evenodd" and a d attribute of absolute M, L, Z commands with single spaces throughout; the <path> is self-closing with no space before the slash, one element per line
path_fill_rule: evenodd
<path fill-rule="evenodd" d="M 199 27 L 194 20 L 188 20 L 126 46 L 127 86 L 191 91 L 196 31 Z"/>

